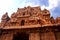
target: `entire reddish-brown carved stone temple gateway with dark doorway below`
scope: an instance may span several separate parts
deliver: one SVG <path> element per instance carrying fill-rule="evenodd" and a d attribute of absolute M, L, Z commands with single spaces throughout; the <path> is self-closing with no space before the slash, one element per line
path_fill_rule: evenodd
<path fill-rule="evenodd" d="M 60 40 L 60 17 L 54 19 L 47 9 L 18 8 L 0 22 L 0 40 Z"/>

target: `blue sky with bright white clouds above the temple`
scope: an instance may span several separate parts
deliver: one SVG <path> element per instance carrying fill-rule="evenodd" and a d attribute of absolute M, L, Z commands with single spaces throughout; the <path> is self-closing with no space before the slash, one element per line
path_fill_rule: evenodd
<path fill-rule="evenodd" d="M 40 6 L 48 9 L 54 18 L 60 17 L 60 0 L 0 0 L 0 21 L 3 14 L 11 16 L 18 8 L 25 6 Z"/>

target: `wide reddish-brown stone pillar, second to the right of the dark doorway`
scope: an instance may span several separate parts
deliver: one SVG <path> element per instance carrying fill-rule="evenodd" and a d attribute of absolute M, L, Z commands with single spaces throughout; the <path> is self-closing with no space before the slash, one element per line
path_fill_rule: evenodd
<path fill-rule="evenodd" d="M 56 40 L 53 32 L 41 33 L 41 40 Z"/>

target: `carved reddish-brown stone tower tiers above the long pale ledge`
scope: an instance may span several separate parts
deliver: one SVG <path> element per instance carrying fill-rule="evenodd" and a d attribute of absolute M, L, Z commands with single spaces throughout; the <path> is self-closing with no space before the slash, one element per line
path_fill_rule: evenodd
<path fill-rule="evenodd" d="M 22 21 L 24 20 L 24 21 Z M 38 7 L 25 7 L 18 8 L 17 12 L 14 12 L 9 18 L 8 13 L 2 16 L 1 24 L 9 26 L 23 26 L 24 25 L 45 25 L 45 24 L 55 24 L 60 23 L 60 18 L 55 19 L 50 17 L 50 12 L 47 9 L 41 10 Z"/>

